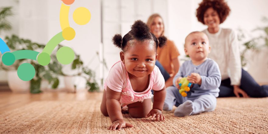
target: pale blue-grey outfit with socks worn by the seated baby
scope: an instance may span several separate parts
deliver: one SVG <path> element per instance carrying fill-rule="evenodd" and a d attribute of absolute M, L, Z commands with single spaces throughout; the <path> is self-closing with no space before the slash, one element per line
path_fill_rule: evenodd
<path fill-rule="evenodd" d="M 175 81 L 179 77 L 190 76 L 191 73 L 198 73 L 201 76 L 201 85 L 193 84 L 187 92 L 187 97 L 182 97 L 175 87 Z M 185 61 L 179 68 L 179 72 L 173 79 L 173 85 L 167 88 L 163 110 L 172 110 L 173 105 L 177 106 L 175 116 L 194 115 L 201 112 L 213 111 L 216 107 L 216 97 L 219 96 L 221 84 L 221 73 L 218 64 L 207 58 L 202 64 L 195 66 L 192 61 Z"/>

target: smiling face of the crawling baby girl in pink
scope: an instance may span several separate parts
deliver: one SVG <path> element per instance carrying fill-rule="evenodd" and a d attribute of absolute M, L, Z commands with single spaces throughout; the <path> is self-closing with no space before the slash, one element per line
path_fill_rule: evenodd
<path fill-rule="evenodd" d="M 151 74 L 157 58 L 154 41 L 130 40 L 127 45 L 126 51 L 120 52 L 120 57 L 131 74 L 130 77 L 144 77 Z"/>

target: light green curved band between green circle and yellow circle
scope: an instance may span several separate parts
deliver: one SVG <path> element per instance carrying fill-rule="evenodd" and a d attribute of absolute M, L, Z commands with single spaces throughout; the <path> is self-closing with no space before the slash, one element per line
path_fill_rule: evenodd
<path fill-rule="evenodd" d="M 58 34 L 56 34 L 54 37 L 52 37 L 47 45 L 45 46 L 44 50 L 42 51 L 42 53 L 48 53 L 49 55 L 52 53 L 52 51 L 54 50 L 54 48 L 61 43 L 62 41 L 64 41 L 64 38 L 62 36 L 62 31 Z"/>

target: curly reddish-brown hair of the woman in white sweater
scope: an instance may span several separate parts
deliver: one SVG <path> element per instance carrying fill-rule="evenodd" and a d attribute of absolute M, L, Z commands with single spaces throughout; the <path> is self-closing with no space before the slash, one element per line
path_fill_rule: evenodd
<path fill-rule="evenodd" d="M 203 0 L 199 3 L 199 7 L 196 9 L 196 17 L 199 22 L 205 24 L 204 14 L 208 8 L 213 8 L 217 11 L 220 23 L 223 23 L 230 13 L 230 8 L 224 0 Z"/>

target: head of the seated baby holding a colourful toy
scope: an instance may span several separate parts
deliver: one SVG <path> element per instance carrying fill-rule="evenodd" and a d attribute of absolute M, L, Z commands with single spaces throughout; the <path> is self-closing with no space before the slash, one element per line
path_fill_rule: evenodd
<path fill-rule="evenodd" d="M 207 35 L 202 32 L 191 33 L 186 37 L 184 51 L 192 60 L 204 60 L 210 53 Z"/>

